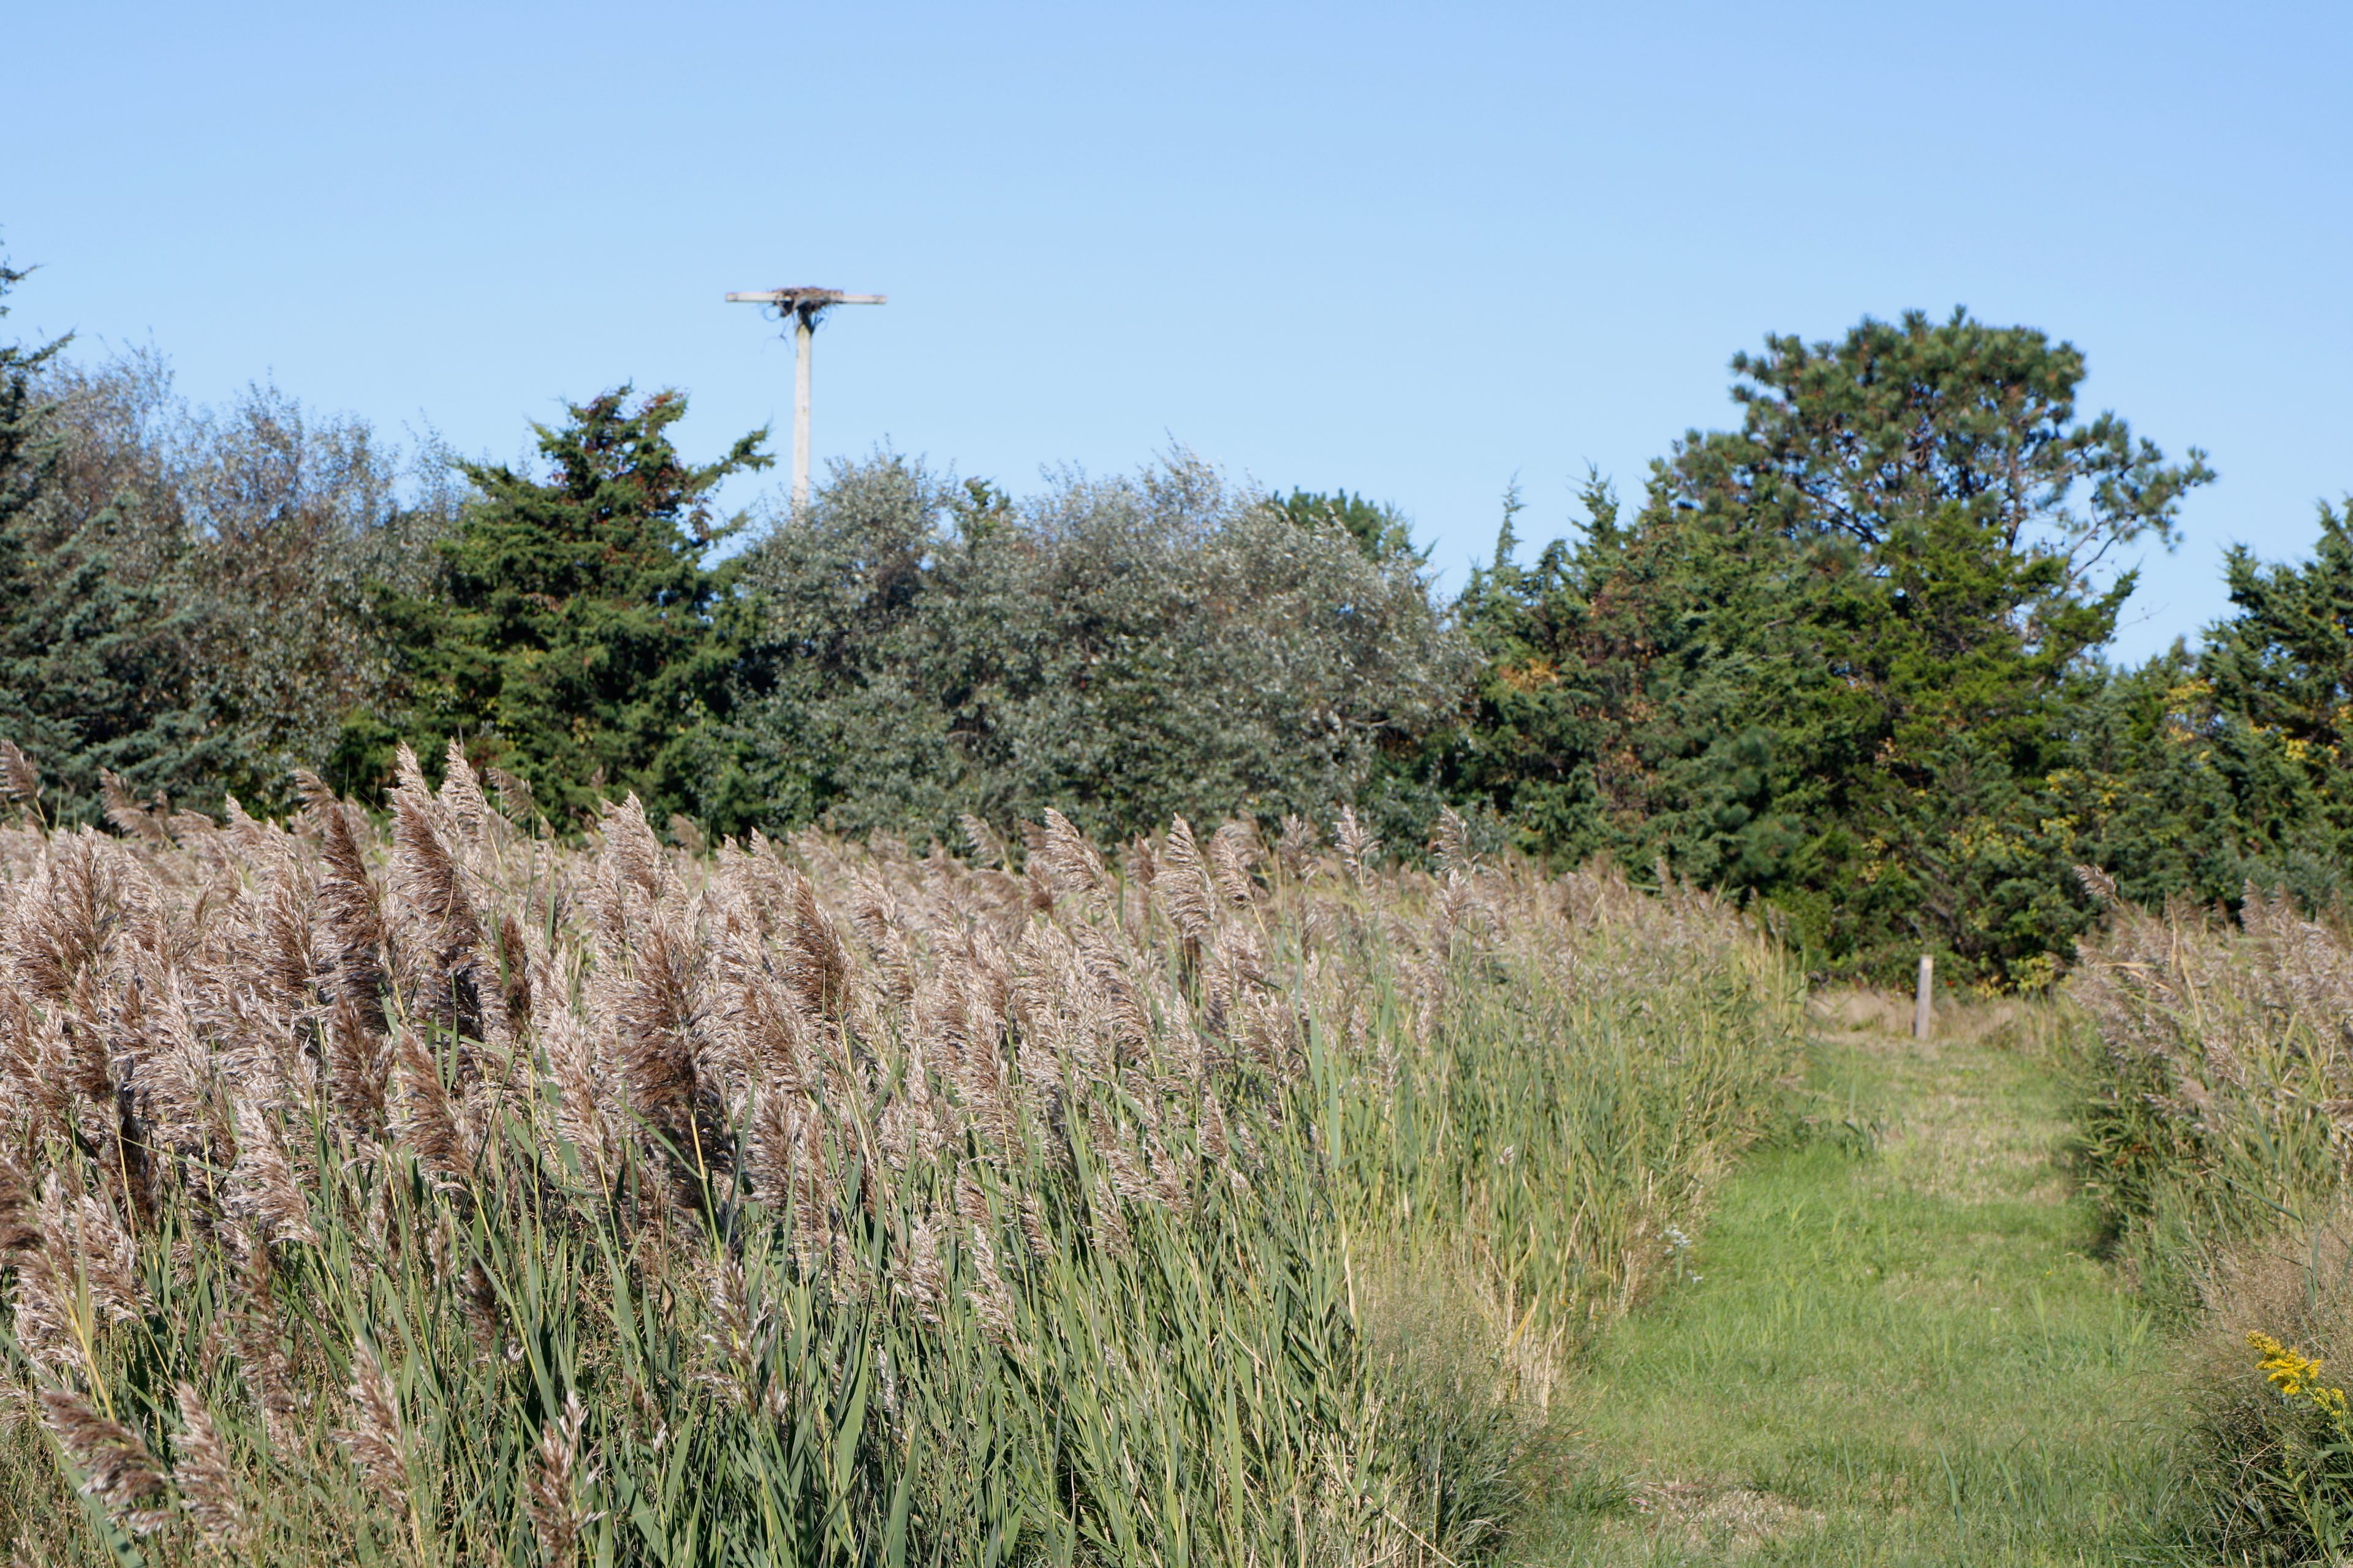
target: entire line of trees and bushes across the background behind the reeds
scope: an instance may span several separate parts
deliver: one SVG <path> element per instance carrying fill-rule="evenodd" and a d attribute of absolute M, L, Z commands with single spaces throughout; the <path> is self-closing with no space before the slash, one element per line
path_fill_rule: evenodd
<path fill-rule="evenodd" d="M 21 273 L 0 268 L 0 294 Z M 5 310 L 5 306 L 0 306 Z M 372 799 L 400 741 L 579 830 L 635 790 L 689 842 L 819 823 L 913 844 L 1056 806 L 1096 835 L 1440 809 L 1553 863 L 1751 896 L 1826 973 L 1922 947 L 2045 983 L 2094 907 L 2346 896 L 2353 512 L 2228 555 L 2193 649 L 2108 658 L 2125 555 L 2214 475 L 2082 416 L 2078 348 L 1965 313 L 1765 339 L 1739 425 L 1640 501 L 1442 595 L 1393 508 L 1172 454 L 1014 496 L 896 454 L 722 517 L 631 388 L 536 463 L 386 447 L 153 355 L 0 346 L 0 738 L 49 820 Z"/>

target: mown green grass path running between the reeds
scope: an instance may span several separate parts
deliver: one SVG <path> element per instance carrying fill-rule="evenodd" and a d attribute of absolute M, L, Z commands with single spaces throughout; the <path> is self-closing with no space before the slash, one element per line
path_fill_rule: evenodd
<path fill-rule="evenodd" d="M 1572 1394 L 1602 1481 L 1527 1561 L 2141 1556 L 2165 1347 L 2087 1251 L 2033 1016 L 1962 1013 L 1927 1046 L 1882 1018 L 1821 1009 L 1812 1070 L 1831 1121 L 1875 1138 L 1758 1150 L 1727 1180 L 1682 1279 Z"/>

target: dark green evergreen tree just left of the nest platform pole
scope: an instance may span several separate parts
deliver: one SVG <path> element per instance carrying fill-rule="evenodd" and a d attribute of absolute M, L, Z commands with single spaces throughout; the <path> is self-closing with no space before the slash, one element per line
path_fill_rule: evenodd
<path fill-rule="evenodd" d="M 736 527 L 713 522 L 711 491 L 769 458 L 762 430 L 715 463 L 685 463 L 668 437 L 685 411 L 678 393 L 631 407 L 619 388 L 536 428 L 546 477 L 459 465 L 480 494 L 438 545 L 438 592 L 384 602 L 407 712 L 346 731 L 346 778 L 379 771 L 400 729 L 435 750 L 459 738 L 560 823 L 600 792 L 635 790 L 656 820 L 734 825 L 741 773 L 715 738 L 732 571 L 704 557 Z"/>

